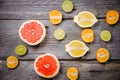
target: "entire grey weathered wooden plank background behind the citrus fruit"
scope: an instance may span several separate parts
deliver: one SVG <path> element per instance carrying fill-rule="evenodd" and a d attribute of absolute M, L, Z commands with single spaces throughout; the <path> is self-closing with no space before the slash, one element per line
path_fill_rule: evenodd
<path fill-rule="evenodd" d="M 50 80 L 68 80 L 66 70 L 69 67 L 79 69 L 78 80 L 120 80 L 120 22 L 110 26 L 105 21 L 108 10 L 115 9 L 120 12 L 119 0 L 72 0 L 74 10 L 65 13 L 61 9 L 64 0 L 0 0 L 0 80 L 47 80 L 38 76 L 33 68 L 34 60 L 43 53 L 52 53 L 60 61 L 61 69 L 59 74 Z M 49 22 L 49 11 L 57 9 L 63 14 L 63 21 L 59 25 L 52 25 Z M 74 15 L 81 11 L 90 11 L 99 20 L 92 29 L 95 32 L 95 41 L 87 44 L 90 51 L 82 58 L 74 59 L 64 51 L 64 45 L 71 40 L 81 40 L 82 28 L 73 22 Z M 32 47 L 23 43 L 18 35 L 20 25 L 26 20 L 37 19 L 46 26 L 47 35 L 43 43 Z M 62 28 L 66 37 L 57 41 L 53 32 Z M 112 40 L 103 42 L 100 39 L 100 32 L 104 29 L 110 30 Z M 18 44 L 28 47 L 27 55 L 19 57 L 15 54 L 14 48 Z M 110 60 L 105 64 L 96 61 L 96 50 L 104 47 L 110 51 Z M 19 66 L 10 70 L 6 67 L 6 58 L 14 55 L 19 58 Z"/>

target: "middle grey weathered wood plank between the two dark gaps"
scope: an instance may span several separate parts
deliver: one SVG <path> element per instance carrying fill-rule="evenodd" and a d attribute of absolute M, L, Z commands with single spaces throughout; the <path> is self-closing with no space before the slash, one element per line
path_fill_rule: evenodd
<path fill-rule="evenodd" d="M 0 20 L 0 58 L 7 57 L 9 55 L 16 55 L 14 48 L 18 44 L 23 43 L 18 35 L 19 26 L 25 20 Z M 72 20 L 64 20 L 60 25 L 54 26 L 48 20 L 41 20 L 45 26 L 48 26 L 46 39 L 39 46 L 28 47 L 28 54 L 20 59 L 35 59 L 39 54 L 50 52 L 55 54 L 59 59 L 73 59 L 65 51 L 64 46 L 71 40 L 82 40 L 80 33 L 82 31 Z M 69 23 L 69 24 L 68 24 Z M 91 44 L 87 44 L 90 47 L 90 51 L 83 59 L 95 59 L 96 50 L 100 47 L 108 48 L 111 53 L 111 59 L 120 59 L 120 24 L 115 26 L 109 26 L 105 20 L 99 20 L 99 22 L 92 27 L 95 32 L 95 41 Z M 57 41 L 53 37 L 53 32 L 56 28 L 63 28 L 66 32 L 66 37 L 62 41 Z M 100 32 L 104 29 L 110 30 L 112 33 L 112 40 L 108 43 L 103 42 L 100 39 Z M 57 47 L 57 48 L 56 48 Z"/>

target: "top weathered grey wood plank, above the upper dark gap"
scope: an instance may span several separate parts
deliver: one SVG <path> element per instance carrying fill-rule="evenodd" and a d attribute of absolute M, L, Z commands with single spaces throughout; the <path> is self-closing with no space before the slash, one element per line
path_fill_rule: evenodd
<path fill-rule="evenodd" d="M 52 9 L 60 10 L 64 18 L 72 19 L 80 11 L 88 10 L 98 18 L 105 17 L 110 9 L 120 11 L 120 2 L 115 0 L 72 0 L 74 11 L 65 13 L 61 9 L 63 0 L 0 0 L 0 19 L 49 19 L 48 14 Z"/>

